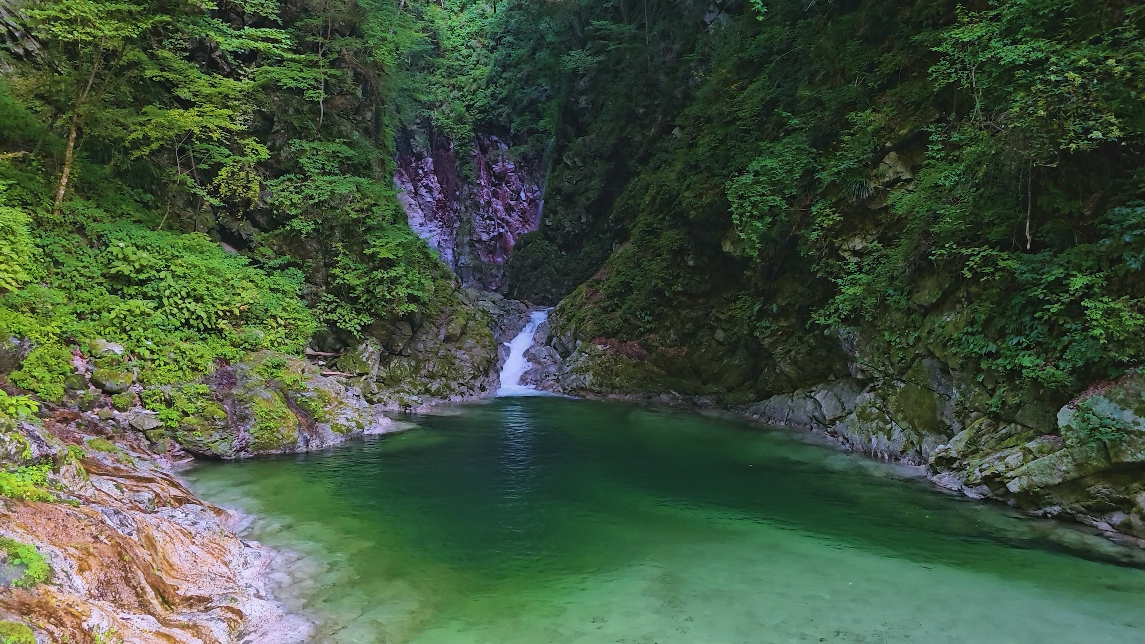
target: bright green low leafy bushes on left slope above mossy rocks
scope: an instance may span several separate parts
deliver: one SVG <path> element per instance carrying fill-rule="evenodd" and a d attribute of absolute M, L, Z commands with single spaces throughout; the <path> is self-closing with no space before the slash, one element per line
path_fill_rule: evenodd
<path fill-rule="evenodd" d="M 58 400 L 72 372 L 68 345 L 94 338 L 123 344 L 127 366 L 152 384 L 194 379 L 248 350 L 301 351 L 316 322 L 300 272 L 259 269 L 203 234 L 124 221 L 140 204 L 124 206 L 72 202 L 81 228 L 33 228 L 39 283 L 0 297 L 0 330 L 35 343 L 13 384 Z"/>

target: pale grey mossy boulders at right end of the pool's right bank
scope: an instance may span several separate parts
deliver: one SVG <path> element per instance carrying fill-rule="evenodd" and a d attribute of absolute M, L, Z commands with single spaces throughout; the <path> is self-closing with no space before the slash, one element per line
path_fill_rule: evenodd
<path fill-rule="evenodd" d="M 973 498 L 1145 539 L 1143 380 L 1130 374 L 1095 387 L 1049 423 L 1045 401 L 1019 398 L 1010 411 L 992 411 L 977 383 L 922 356 L 902 378 L 842 378 L 772 396 L 748 415 L 926 465 L 935 484 Z"/>

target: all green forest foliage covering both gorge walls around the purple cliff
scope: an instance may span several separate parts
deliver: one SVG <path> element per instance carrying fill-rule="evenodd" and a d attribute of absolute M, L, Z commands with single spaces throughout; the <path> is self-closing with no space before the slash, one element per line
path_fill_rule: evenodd
<path fill-rule="evenodd" d="M 463 166 L 479 134 L 544 154 L 513 294 L 589 280 L 578 316 L 657 346 L 718 328 L 744 386 L 846 328 L 1055 395 L 1145 355 L 1139 0 L 27 16 L 44 56 L 0 84 L 0 331 L 33 341 L 11 382 L 44 398 L 104 338 L 175 427 L 214 403 L 156 385 L 457 304 L 398 206 L 398 133 Z"/>

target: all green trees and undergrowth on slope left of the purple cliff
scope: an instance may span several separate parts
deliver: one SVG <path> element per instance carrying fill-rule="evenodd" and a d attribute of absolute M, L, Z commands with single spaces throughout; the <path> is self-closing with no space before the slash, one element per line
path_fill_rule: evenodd
<path fill-rule="evenodd" d="M 57 400 L 78 360 L 183 382 L 456 304 L 392 181 L 428 18 L 145 0 L 3 18 L 0 336 L 33 346 L 14 385 Z"/>

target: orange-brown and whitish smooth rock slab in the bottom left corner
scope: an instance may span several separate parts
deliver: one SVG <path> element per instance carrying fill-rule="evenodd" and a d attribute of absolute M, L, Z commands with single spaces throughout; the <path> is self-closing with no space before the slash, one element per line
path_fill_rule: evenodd
<path fill-rule="evenodd" d="M 95 413 L 0 422 L 0 630 L 33 642 L 303 642 L 274 552 L 195 497 L 142 433 Z M 3 487 L 3 486 L 0 486 Z M 19 639 L 14 639 L 19 642 Z"/>

